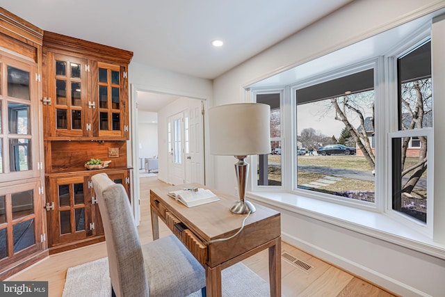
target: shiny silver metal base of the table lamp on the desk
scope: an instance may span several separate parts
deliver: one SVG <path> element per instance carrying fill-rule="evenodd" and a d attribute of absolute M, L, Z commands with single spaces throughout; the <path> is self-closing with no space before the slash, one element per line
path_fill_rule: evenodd
<path fill-rule="evenodd" d="M 230 209 L 233 214 L 249 214 L 254 213 L 255 209 L 252 202 L 245 200 L 245 192 L 247 190 L 247 182 L 249 175 L 249 163 L 244 161 L 246 156 L 235 156 L 238 162 L 235 163 L 236 179 L 238 180 L 239 200 L 235 202 Z"/>

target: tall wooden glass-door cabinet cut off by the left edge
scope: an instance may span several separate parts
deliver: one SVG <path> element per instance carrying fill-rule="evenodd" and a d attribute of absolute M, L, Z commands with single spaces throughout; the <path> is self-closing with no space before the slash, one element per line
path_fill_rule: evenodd
<path fill-rule="evenodd" d="M 0 280 L 48 255 L 38 112 L 42 34 L 0 8 Z"/>

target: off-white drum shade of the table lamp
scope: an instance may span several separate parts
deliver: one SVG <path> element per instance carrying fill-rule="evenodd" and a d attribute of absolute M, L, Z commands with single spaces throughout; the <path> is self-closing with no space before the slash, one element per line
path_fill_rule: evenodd
<path fill-rule="evenodd" d="M 210 152 L 225 156 L 270 153 L 270 106 L 238 103 L 209 109 Z"/>

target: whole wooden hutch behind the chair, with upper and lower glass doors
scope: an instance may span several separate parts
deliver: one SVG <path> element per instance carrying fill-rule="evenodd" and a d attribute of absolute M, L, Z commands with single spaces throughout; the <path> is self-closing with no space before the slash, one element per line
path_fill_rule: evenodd
<path fill-rule="evenodd" d="M 90 176 L 129 190 L 128 64 L 133 53 L 44 31 L 42 106 L 49 253 L 104 241 Z M 90 159 L 111 161 L 87 170 Z M 130 191 L 128 191 L 129 197 Z"/>

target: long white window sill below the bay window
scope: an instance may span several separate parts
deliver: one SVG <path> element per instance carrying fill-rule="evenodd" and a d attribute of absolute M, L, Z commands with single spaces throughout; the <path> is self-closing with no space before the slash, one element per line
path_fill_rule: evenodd
<path fill-rule="evenodd" d="M 385 216 L 385 214 L 292 193 L 249 192 L 248 198 L 268 204 L 271 207 L 309 216 L 325 223 L 445 259 L 444 244 L 432 241 L 424 234 L 414 232 L 405 225 L 389 218 L 389 216 Z"/>

